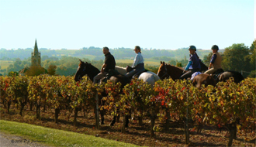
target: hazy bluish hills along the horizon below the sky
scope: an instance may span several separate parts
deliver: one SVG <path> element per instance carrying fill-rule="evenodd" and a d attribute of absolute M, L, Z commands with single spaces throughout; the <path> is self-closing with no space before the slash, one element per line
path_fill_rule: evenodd
<path fill-rule="evenodd" d="M 39 50 L 41 53 L 42 60 L 50 57 L 61 58 L 61 56 L 73 56 L 78 58 L 88 58 L 88 60 L 104 60 L 104 55 L 101 48 L 89 47 L 82 48 L 80 50 L 49 50 L 42 48 Z M 220 50 L 223 52 L 224 50 Z M 0 60 L 11 60 L 13 58 L 20 58 L 24 60 L 31 57 L 33 49 L 18 49 L 18 50 L 0 50 Z M 141 50 L 145 59 L 152 60 L 184 60 L 189 59 L 188 48 L 182 48 L 178 50 Z M 132 60 L 135 56 L 133 49 L 130 48 L 119 48 L 110 49 L 110 53 L 115 56 L 116 60 Z M 197 50 L 200 58 L 211 53 L 211 50 Z"/>

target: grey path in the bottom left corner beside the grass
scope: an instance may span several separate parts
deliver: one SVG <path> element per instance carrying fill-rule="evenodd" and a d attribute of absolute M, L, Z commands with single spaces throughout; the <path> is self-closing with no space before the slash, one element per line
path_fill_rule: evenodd
<path fill-rule="evenodd" d="M 43 142 L 37 142 L 36 140 L 29 140 L 26 137 L 20 137 L 18 135 L 9 135 L 0 132 L 0 146 L 47 146 L 43 145 Z"/>

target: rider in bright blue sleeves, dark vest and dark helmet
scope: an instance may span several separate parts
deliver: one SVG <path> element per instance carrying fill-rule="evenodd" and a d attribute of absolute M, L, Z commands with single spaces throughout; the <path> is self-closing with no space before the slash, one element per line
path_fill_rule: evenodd
<path fill-rule="evenodd" d="M 184 74 L 182 74 L 182 76 L 180 77 L 180 79 L 182 80 L 191 77 L 193 73 L 199 71 L 201 68 L 199 56 L 197 55 L 197 53 L 195 53 L 195 51 L 195 46 L 189 46 L 189 63 L 187 64 L 185 70 L 183 71 Z"/>

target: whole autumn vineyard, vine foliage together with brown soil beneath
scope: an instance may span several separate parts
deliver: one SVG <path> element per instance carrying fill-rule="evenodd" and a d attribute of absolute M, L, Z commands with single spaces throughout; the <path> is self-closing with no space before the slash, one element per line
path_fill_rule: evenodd
<path fill-rule="evenodd" d="M 255 145 L 255 79 L 239 85 L 228 80 L 201 89 L 185 80 L 160 80 L 154 89 L 133 80 L 124 87 L 123 94 L 119 94 L 119 84 L 108 82 L 98 87 L 86 78 L 78 83 L 73 79 L 1 77 L 1 119 L 135 145 L 184 146 L 188 137 L 185 132 L 189 132 L 189 145 L 225 146 L 232 136 L 235 146 Z M 105 124 L 97 129 L 95 94 L 103 88 L 108 94 L 100 106 L 106 111 Z M 109 126 L 117 113 L 120 118 Z M 127 128 L 124 114 L 131 115 Z M 227 128 L 236 130 L 236 137 Z"/>

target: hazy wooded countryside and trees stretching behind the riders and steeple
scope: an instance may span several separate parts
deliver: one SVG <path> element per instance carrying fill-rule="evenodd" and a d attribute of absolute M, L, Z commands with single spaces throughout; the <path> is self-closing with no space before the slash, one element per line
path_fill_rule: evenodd
<path fill-rule="evenodd" d="M 250 47 L 244 46 L 244 43 L 234 43 L 232 46 L 226 47 L 224 50 L 220 50 L 220 55 L 223 56 L 222 67 L 223 70 L 235 70 L 238 72 L 242 72 L 244 77 L 255 77 L 256 70 L 255 70 L 255 56 L 256 56 L 256 49 L 255 49 L 255 40 L 251 44 Z M 32 49 L 25 49 L 29 50 L 28 56 L 32 52 Z M 19 53 L 20 56 L 25 55 L 26 53 L 20 53 L 22 49 L 19 50 L 0 50 L 1 53 L 8 53 L 8 54 L 16 54 Z M 65 53 L 68 50 L 40 50 L 41 54 L 41 66 L 48 70 L 48 68 L 55 67 L 57 75 L 74 75 L 78 68 L 79 59 L 85 62 L 92 63 L 95 67 L 101 68 L 104 60 L 104 55 L 102 53 L 101 48 L 97 47 L 89 47 L 89 48 L 82 48 L 81 50 L 73 50 L 74 56 L 52 56 L 53 54 L 45 55 L 43 51 L 47 51 L 48 53 Z M 116 59 L 120 58 L 133 58 L 134 52 L 128 48 L 119 48 L 115 50 L 110 50 L 110 52 L 115 56 Z M 179 50 L 142 50 L 143 56 L 145 59 L 151 58 L 154 60 L 169 60 L 167 63 L 171 65 L 175 65 L 178 67 L 185 67 L 189 60 L 189 51 L 187 48 L 182 48 Z M 173 54 L 172 54 L 173 53 Z M 209 50 L 197 50 L 197 53 L 202 60 L 203 63 L 209 65 L 209 61 L 213 53 Z M 65 54 L 64 54 L 65 55 Z M 83 56 L 83 57 L 78 57 Z M 85 56 L 92 55 L 95 56 L 95 59 L 98 60 L 89 60 Z M 124 57 L 125 56 L 125 57 Z M 175 57 L 173 57 L 175 56 Z M 179 56 L 179 57 L 177 57 Z M 183 57 L 182 57 L 183 56 Z M 177 60 L 176 58 L 180 59 Z M 30 67 L 31 58 L 27 57 L 22 60 L 22 57 L 17 56 L 16 59 L 9 59 L 8 57 L 2 56 L 1 60 L 14 60 L 14 63 L 10 64 L 9 67 L 5 70 L 1 70 L 4 75 L 8 75 L 8 73 L 12 72 L 19 72 L 24 67 Z M 117 63 L 118 66 L 126 67 L 130 63 Z M 146 65 L 147 70 L 151 70 L 154 73 L 157 73 L 157 68 L 154 66 Z M 52 69 L 50 69 L 52 70 Z"/>

